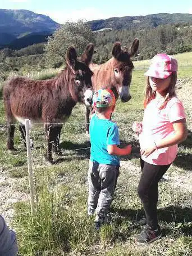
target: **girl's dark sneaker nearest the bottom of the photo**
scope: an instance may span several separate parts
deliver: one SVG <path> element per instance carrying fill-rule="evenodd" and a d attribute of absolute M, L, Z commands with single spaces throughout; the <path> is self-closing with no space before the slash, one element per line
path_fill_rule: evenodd
<path fill-rule="evenodd" d="M 150 243 L 156 241 L 161 238 L 161 227 L 158 225 L 157 230 L 152 230 L 148 224 L 144 227 L 143 231 L 141 231 L 138 235 L 135 236 L 136 242 L 140 244 Z"/>

